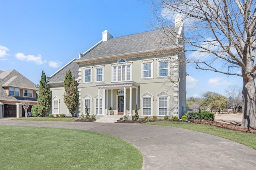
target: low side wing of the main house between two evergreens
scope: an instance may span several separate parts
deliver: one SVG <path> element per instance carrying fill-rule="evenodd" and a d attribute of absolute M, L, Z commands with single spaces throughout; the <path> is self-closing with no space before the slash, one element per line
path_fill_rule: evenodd
<path fill-rule="evenodd" d="M 47 84 L 49 84 L 50 90 L 52 92 L 52 106 L 50 111 L 48 111 L 48 114 L 51 113 L 54 115 L 60 115 L 63 113 L 66 114 L 66 116 L 71 116 L 68 108 L 66 107 L 66 104 L 64 103 L 63 95 L 65 93 L 65 90 L 63 82 L 66 76 L 66 72 L 68 70 L 70 70 L 72 77 L 75 76 L 75 78 L 78 78 L 79 66 L 73 61 L 76 61 L 76 59 L 71 60 L 68 64 L 60 68 L 60 70 L 47 78 Z"/>

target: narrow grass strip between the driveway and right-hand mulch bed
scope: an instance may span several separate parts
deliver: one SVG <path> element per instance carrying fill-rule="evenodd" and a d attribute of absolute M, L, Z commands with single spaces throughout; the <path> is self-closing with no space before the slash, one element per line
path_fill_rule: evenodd
<path fill-rule="evenodd" d="M 178 127 L 183 129 L 189 129 L 192 131 L 208 133 L 208 134 L 229 139 L 231 141 L 235 141 L 237 143 L 256 149 L 256 134 L 253 134 L 253 133 L 244 133 L 244 132 L 232 131 L 228 129 L 222 129 L 222 128 L 209 126 L 209 125 L 200 125 L 196 123 L 187 123 L 187 122 L 178 122 L 178 121 L 156 121 L 156 122 L 149 122 L 146 124 Z"/>

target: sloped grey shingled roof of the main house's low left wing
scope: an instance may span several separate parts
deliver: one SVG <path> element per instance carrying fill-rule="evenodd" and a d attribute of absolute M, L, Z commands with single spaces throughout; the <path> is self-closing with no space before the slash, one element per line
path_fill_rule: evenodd
<path fill-rule="evenodd" d="M 75 76 L 75 78 L 78 78 L 79 66 L 78 66 L 77 63 L 73 63 L 73 61 L 76 61 L 76 59 L 73 59 L 68 64 L 66 64 L 65 66 L 60 68 L 60 70 L 58 70 L 57 72 L 52 74 L 50 76 L 50 78 L 48 78 L 47 83 L 51 84 L 51 83 L 56 83 L 56 82 L 64 82 L 64 79 L 65 79 L 65 76 L 66 76 L 66 72 L 68 70 L 70 70 L 70 72 L 72 74 L 72 77 Z"/>

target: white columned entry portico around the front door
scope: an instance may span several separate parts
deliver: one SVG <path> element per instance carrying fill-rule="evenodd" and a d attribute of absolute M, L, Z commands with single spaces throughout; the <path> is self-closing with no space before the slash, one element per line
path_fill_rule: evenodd
<path fill-rule="evenodd" d="M 102 115 L 108 114 L 108 108 L 113 108 L 113 103 L 116 105 L 116 112 L 118 114 L 126 115 L 126 107 L 128 106 L 129 116 L 132 115 L 132 102 L 136 101 L 138 105 L 138 88 L 140 84 L 129 81 L 129 82 L 113 82 L 113 83 L 99 83 L 95 84 L 98 87 L 98 106 L 100 106 L 100 91 L 103 89 L 102 98 Z M 127 101 L 127 89 L 129 89 L 129 102 Z M 132 89 L 136 89 L 136 96 L 132 95 Z M 108 102 L 108 93 L 110 92 L 110 104 Z M 113 95 L 116 95 L 114 100 Z M 97 111 L 97 115 L 100 115 L 100 109 Z"/>

